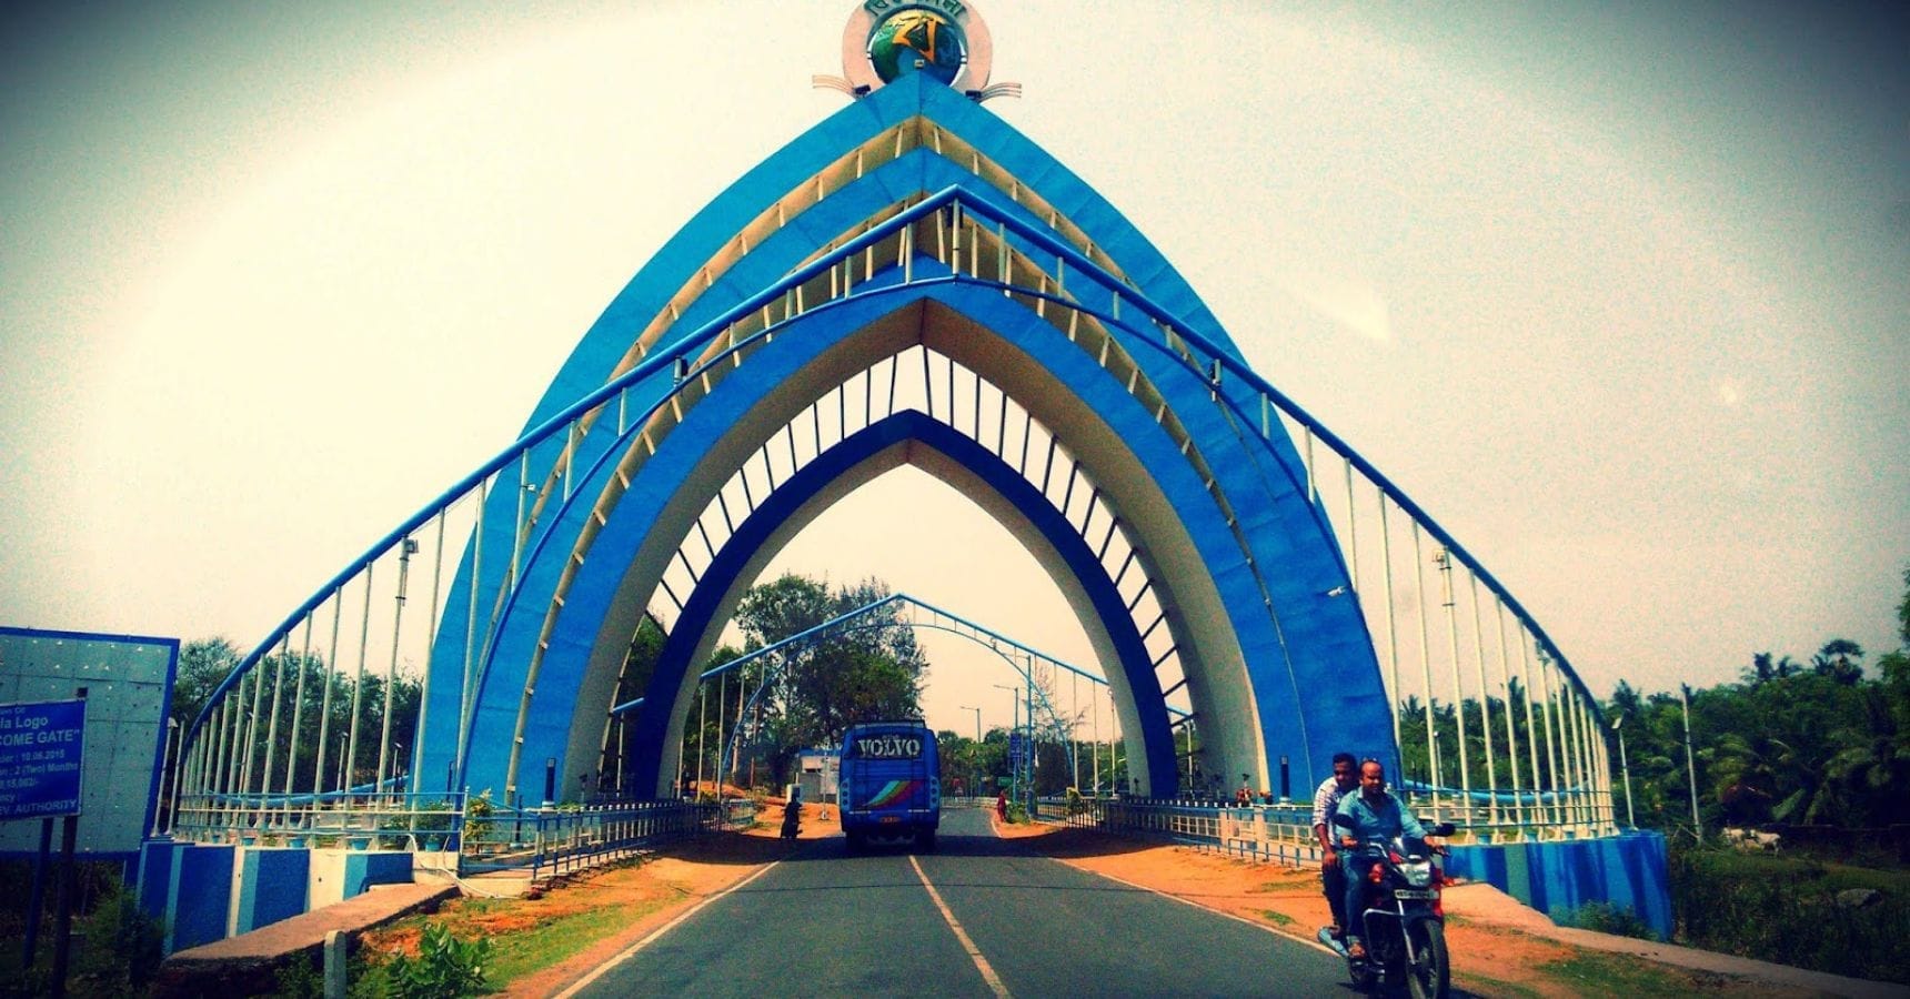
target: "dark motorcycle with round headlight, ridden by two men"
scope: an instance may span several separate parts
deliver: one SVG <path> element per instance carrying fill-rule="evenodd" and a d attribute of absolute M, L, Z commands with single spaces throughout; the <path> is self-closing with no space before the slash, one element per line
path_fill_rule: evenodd
<path fill-rule="evenodd" d="M 1341 816 L 1335 816 L 1333 823 L 1343 825 Z M 1450 837 L 1452 823 L 1442 821 L 1427 829 L 1427 835 Z M 1404 984 L 1413 999 L 1450 995 L 1446 909 L 1440 905 L 1444 873 L 1432 863 L 1432 852 L 1423 840 L 1394 837 L 1390 842 L 1371 839 L 1341 854 L 1375 861 L 1366 877 L 1366 909 L 1362 909 L 1366 957 L 1354 961 L 1329 926 L 1320 928 L 1320 942 L 1347 959 L 1347 974 L 1352 976 L 1354 988 Z"/>

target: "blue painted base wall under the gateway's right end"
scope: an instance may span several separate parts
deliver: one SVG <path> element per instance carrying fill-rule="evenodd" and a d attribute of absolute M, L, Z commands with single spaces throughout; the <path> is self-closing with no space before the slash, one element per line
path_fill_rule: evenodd
<path fill-rule="evenodd" d="M 1570 925 L 1581 905 L 1602 902 L 1631 909 L 1662 940 L 1671 938 L 1671 882 L 1666 873 L 1666 839 L 1660 833 L 1454 846 L 1446 858 L 1446 873 L 1492 882 L 1560 925 Z"/>

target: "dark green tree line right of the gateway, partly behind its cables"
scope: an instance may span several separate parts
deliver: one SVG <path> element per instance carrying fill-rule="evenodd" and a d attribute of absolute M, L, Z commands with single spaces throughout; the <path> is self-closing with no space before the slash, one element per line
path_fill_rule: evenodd
<path fill-rule="evenodd" d="M 1904 586 L 1897 607 L 1900 648 L 1872 663 L 1857 642 L 1832 638 L 1805 661 L 1759 651 L 1736 682 L 1711 688 L 1646 695 L 1620 680 L 1599 703 L 1616 816 L 1622 821 L 1627 816 L 1629 772 L 1629 814 L 1646 829 L 1692 833 L 1765 823 L 1885 829 L 1910 823 L 1910 571 Z M 1492 766 L 1501 785 L 1511 785 L 1515 766 L 1522 789 L 1570 783 L 1553 772 L 1557 760 L 1547 753 L 1543 697 L 1528 707 L 1528 691 L 1517 678 L 1507 684 L 1505 697 L 1432 703 L 1446 783 L 1459 774 L 1461 711 L 1467 768 L 1475 777 L 1486 774 L 1482 712 L 1490 712 Z M 1425 703 L 1408 697 L 1398 712 L 1406 770 L 1427 774 Z M 1513 739 L 1505 737 L 1507 726 Z M 1511 745 L 1520 747 L 1517 760 Z"/>

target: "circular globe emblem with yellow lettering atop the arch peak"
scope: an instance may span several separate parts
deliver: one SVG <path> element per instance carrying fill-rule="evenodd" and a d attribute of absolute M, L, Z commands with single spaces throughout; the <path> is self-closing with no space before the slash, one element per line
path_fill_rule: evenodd
<path fill-rule="evenodd" d="M 987 25 L 966 0 L 863 0 L 842 31 L 842 76 L 860 92 L 911 73 L 982 90 L 991 57 Z"/>

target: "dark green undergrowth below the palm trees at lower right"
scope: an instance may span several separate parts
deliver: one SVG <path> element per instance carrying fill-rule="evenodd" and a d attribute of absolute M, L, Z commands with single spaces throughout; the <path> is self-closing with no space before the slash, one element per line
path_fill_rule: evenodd
<path fill-rule="evenodd" d="M 1681 942 L 1799 968 L 1910 984 L 1910 873 L 1673 846 Z M 1837 903 L 1845 888 L 1881 900 Z"/>

